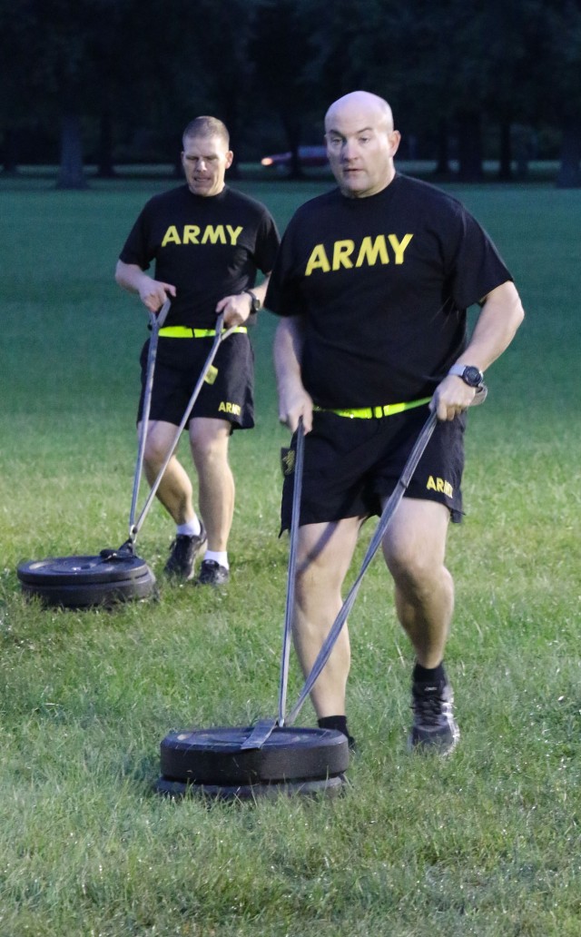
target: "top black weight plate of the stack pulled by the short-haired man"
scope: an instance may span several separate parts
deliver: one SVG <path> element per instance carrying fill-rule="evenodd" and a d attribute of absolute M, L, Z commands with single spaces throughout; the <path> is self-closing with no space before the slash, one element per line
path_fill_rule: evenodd
<path fill-rule="evenodd" d="M 16 572 L 22 583 L 31 586 L 92 586 L 138 579 L 149 567 L 141 557 L 48 557 L 23 562 Z"/>

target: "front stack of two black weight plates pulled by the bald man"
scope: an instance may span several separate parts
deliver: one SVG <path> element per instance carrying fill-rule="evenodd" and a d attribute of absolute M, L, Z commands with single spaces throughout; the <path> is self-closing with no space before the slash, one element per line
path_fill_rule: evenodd
<path fill-rule="evenodd" d="M 251 732 L 251 726 L 171 732 L 161 742 L 157 792 L 220 800 L 342 792 L 349 765 L 349 745 L 342 733 L 283 726 L 261 748 L 243 749 Z"/>

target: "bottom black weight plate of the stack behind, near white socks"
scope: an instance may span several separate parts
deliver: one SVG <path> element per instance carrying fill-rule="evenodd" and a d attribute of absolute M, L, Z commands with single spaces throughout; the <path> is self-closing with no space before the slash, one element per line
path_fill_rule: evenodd
<path fill-rule="evenodd" d="M 117 602 L 147 599 L 156 588 L 156 577 L 148 570 L 139 579 L 121 582 L 81 583 L 77 585 L 31 585 L 22 583 L 25 596 L 37 596 L 45 605 L 64 608 L 89 608 L 94 605 L 110 606 Z"/>

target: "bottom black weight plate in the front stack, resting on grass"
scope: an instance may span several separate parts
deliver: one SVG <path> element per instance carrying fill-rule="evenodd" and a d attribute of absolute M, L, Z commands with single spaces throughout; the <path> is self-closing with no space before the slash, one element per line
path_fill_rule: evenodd
<path fill-rule="evenodd" d="M 211 800 L 259 800 L 275 799 L 286 796 L 326 796 L 336 797 L 343 794 L 346 786 L 342 775 L 325 778 L 321 781 L 292 781 L 278 784 L 241 784 L 222 786 L 220 784 L 188 784 L 186 781 L 169 781 L 159 778 L 156 783 L 157 794 L 173 799 L 186 796 L 207 797 Z"/>

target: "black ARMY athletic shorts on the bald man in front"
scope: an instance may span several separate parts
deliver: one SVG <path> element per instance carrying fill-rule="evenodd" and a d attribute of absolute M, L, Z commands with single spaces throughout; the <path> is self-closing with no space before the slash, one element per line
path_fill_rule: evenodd
<path fill-rule="evenodd" d="M 427 404 L 370 420 L 315 412 L 305 436 L 300 523 L 379 515 L 428 415 Z M 436 425 L 407 489 L 409 498 L 444 504 L 455 523 L 462 518 L 465 425 L 464 414 Z M 290 528 L 295 445 L 294 436 L 283 450 L 282 530 Z"/>

